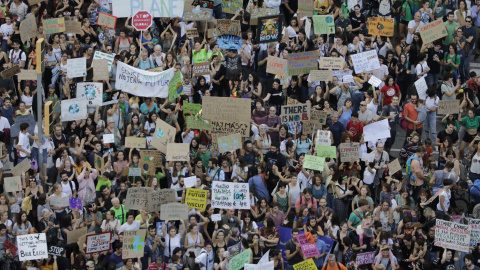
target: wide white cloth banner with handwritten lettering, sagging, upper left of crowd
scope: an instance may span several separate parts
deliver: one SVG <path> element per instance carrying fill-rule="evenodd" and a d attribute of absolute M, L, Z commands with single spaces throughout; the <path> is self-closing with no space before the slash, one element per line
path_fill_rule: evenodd
<path fill-rule="evenodd" d="M 150 72 L 118 61 L 115 88 L 139 97 L 166 98 L 173 75 L 173 68 L 163 72 Z"/>

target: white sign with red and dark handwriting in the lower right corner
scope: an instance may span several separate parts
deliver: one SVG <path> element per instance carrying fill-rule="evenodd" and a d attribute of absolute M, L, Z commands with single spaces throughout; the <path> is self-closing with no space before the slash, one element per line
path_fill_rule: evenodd
<path fill-rule="evenodd" d="M 469 252 L 470 234 L 471 229 L 469 225 L 437 219 L 435 225 L 434 245 L 437 247 Z"/>

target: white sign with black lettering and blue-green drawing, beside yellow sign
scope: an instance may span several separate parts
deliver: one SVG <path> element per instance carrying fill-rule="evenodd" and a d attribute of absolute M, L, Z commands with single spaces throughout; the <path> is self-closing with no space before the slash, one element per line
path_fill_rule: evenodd
<path fill-rule="evenodd" d="M 212 207 L 220 209 L 250 209 L 247 183 L 212 182 Z"/>

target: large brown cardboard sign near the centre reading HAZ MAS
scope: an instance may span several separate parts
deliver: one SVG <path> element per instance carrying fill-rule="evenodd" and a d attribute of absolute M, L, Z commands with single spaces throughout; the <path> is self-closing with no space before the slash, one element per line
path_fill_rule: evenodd
<path fill-rule="evenodd" d="M 202 116 L 205 119 L 250 123 L 251 101 L 246 98 L 204 96 L 202 108 Z"/>

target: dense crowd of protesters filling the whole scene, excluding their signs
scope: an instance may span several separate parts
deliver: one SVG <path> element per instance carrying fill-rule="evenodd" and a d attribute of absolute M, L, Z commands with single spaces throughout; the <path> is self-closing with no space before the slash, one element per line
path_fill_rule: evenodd
<path fill-rule="evenodd" d="M 305 17 L 297 14 L 297 0 L 244 0 L 235 14 L 224 13 L 221 0 L 199 1 L 211 5 L 215 19 L 240 21 L 238 50 L 220 49 L 217 38 L 206 35 L 214 20 L 156 17 L 142 33 L 131 18 L 118 18 L 116 29 L 97 25 L 99 12 L 115 14 L 115 1 L 123 0 L 0 3 L 0 71 L 14 65 L 36 69 L 35 44 L 41 38 L 47 44 L 42 87 L 18 75 L 0 78 L 2 270 L 228 270 L 235 245 L 251 249 L 251 264 L 266 255 L 273 269 L 293 270 L 309 259 L 299 234 L 318 248 L 312 258 L 318 269 L 479 269 L 480 244 L 472 243 L 468 253 L 435 245 L 435 224 L 437 219 L 468 224 L 480 202 L 480 80 L 470 70 L 470 61 L 480 55 L 480 0 L 358 0 L 353 7 L 351 1 L 311 0 L 312 13 Z M 250 19 L 258 8 L 284 15 L 280 42 L 258 44 Z M 335 34 L 314 34 L 313 15 L 333 15 Z M 21 23 L 31 16 L 38 35 L 25 39 Z M 42 20 L 60 17 L 81 22 L 81 30 L 46 35 Z M 372 17 L 393 18 L 394 35 L 370 35 Z M 422 42 L 420 28 L 437 19 L 447 36 Z M 198 38 L 187 37 L 190 28 L 198 30 Z M 105 94 L 120 91 L 117 103 L 89 106 L 83 120 L 57 117 L 51 126 L 45 126 L 45 115 L 35 126 L 16 121 L 25 115 L 37 119 L 38 107 L 44 106 L 37 95 L 53 104 L 78 98 L 77 83 L 94 81 L 97 51 L 114 57 L 109 80 L 96 82 L 103 83 Z M 269 56 L 288 59 L 305 51 L 344 59 L 345 75 L 313 81 L 310 74 L 267 73 Z M 366 51 L 376 51 L 380 68 L 356 73 L 351 56 Z M 68 59 L 74 58 L 86 58 L 84 77 L 67 76 Z M 169 101 L 122 92 L 115 86 L 118 61 L 141 70 L 181 71 L 183 95 Z M 193 65 L 204 62 L 210 73 L 193 76 Z M 349 74 L 353 80 L 345 82 Z M 381 80 L 378 87 L 369 83 L 372 76 Z M 421 78 L 428 85 L 425 96 L 414 86 Z M 187 126 L 185 116 L 192 112 L 184 111 L 184 103 L 202 104 L 206 96 L 251 101 L 251 130 L 241 149 L 220 154 L 210 131 Z M 316 155 L 316 132 L 304 132 L 302 122 L 282 123 L 287 100 L 326 112 L 325 123 L 315 129 L 330 131 L 337 158 L 325 158 L 323 170 L 303 167 L 306 155 Z M 437 115 L 440 100 L 458 100 L 458 112 Z M 155 173 L 128 176 L 125 172 L 138 168 L 142 156 L 141 149 L 125 147 L 125 138 L 147 140 L 157 119 L 175 128 L 176 143 L 189 144 L 190 160 L 171 162 L 163 155 Z M 388 121 L 390 138 L 365 141 L 364 127 L 382 120 Z M 14 126 L 18 136 L 11 135 Z M 39 129 L 51 135 L 40 137 Z M 401 129 L 406 138 L 396 151 L 392 146 L 402 144 Z M 105 134 L 113 134 L 114 141 L 103 142 Z M 342 161 L 342 143 L 358 143 L 358 160 Z M 373 160 L 362 158 L 372 154 Z M 97 157 L 104 159 L 101 169 Z M 7 192 L 4 178 L 25 159 L 31 168 L 21 174 L 22 189 Z M 395 159 L 403 168 L 391 173 L 388 165 Z M 161 220 L 160 209 L 124 207 L 132 187 L 174 189 L 177 201 L 185 203 L 184 181 L 191 176 L 197 179 L 194 188 L 207 190 L 208 198 L 206 209 L 189 208 L 187 220 Z M 251 208 L 212 207 L 213 181 L 248 183 Z M 65 197 L 81 199 L 83 208 L 50 203 Z M 215 214 L 221 214 L 220 221 L 213 221 Z M 85 254 L 84 243 L 67 244 L 67 234 L 83 227 L 88 233 L 111 232 L 111 250 Z M 122 258 L 124 232 L 139 229 L 147 229 L 144 255 Z M 281 241 L 285 230 L 288 241 Z M 4 243 L 17 245 L 18 236 L 31 233 L 45 233 L 48 246 L 63 252 L 20 261 Z M 325 238 L 334 244 L 327 245 Z M 375 252 L 373 262 L 358 265 L 358 254 L 367 252 Z"/>

